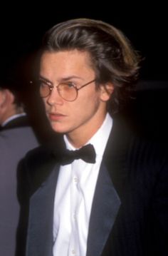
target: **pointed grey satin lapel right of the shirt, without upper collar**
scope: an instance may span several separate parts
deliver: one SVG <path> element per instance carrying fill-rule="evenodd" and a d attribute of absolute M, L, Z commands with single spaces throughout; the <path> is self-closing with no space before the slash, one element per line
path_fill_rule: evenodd
<path fill-rule="evenodd" d="M 103 164 L 100 168 L 90 216 L 87 256 L 101 255 L 119 208 L 120 198 Z"/>

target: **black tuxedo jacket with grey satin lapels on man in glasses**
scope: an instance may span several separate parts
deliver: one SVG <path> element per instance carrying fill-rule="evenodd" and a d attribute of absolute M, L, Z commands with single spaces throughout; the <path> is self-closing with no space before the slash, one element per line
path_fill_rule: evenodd
<path fill-rule="evenodd" d="M 55 146 L 59 150 L 62 144 Z M 54 154 L 53 149 L 38 148 L 21 165 L 21 205 L 30 203 L 26 256 L 52 255 L 60 167 Z M 24 207 L 22 211 L 25 214 Z M 21 225 L 27 224 L 24 217 Z M 87 256 L 166 256 L 167 226 L 166 154 L 114 118 L 93 198 Z"/>

